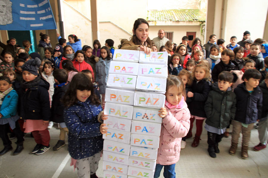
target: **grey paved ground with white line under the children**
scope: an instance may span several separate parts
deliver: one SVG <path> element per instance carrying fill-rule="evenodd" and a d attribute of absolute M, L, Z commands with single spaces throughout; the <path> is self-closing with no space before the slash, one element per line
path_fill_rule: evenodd
<path fill-rule="evenodd" d="M 54 125 L 56 126 L 56 124 Z M 51 147 L 59 136 L 59 130 L 50 129 Z M 193 129 L 195 131 L 195 128 Z M 200 145 L 191 147 L 193 139 L 187 139 L 186 148 L 180 152 L 180 160 L 176 164 L 176 177 L 213 177 L 213 178 L 239 178 L 239 177 L 268 177 L 268 148 L 259 152 L 253 151 L 253 146 L 259 143 L 258 130 L 251 131 L 249 159 L 240 157 L 241 145 L 239 144 L 236 155 L 229 155 L 230 137 L 223 138 L 219 144 L 220 153 L 217 158 L 211 158 L 207 152 L 207 132 L 203 130 Z M 240 139 L 241 140 L 241 139 Z M 13 139 L 13 150 L 16 147 L 16 139 Z M 67 143 L 67 139 L 66 139 Z M 0 142 L 0 149 L 3 149 Z M 34 139 L 27 134 L 24 142 L 24 150 L 21 154 L 13 156 L 12 152 L 0 156 L 0 178 L 74 178 L 77 172 L 70 167 L 70 156 L 67 145 L 58 151 L 52 148 L 43 155 L 31 154 L 35 146 Z M 163 170 L 162 170 L 163 171 Z M 103 177 L 102 160 L 97 171 L 99 178 Z M 161 173 L 161 178 L 163 174 Z"/>

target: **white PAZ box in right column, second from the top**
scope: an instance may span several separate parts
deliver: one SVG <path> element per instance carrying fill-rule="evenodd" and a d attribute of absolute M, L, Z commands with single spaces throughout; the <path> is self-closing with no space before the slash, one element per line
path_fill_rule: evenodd
<path fill-rule="evenodd" d="M 138 75 L 145 77 L 167 78 L 167 65 L 160 64 L 139 64 Z"/>

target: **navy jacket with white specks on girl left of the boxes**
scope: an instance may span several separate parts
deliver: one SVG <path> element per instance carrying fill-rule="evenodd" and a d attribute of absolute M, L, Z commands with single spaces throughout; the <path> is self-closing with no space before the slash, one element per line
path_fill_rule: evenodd
<path fill-rule="evenodd" d="M 64 120 L 68 134 L 68 149 L 72 158 L 88 158 L 100 152 L 103 147 L 102 134 L 98 122 L 101 105 L 92 105 L 88 98 L 64 110 Z"/>

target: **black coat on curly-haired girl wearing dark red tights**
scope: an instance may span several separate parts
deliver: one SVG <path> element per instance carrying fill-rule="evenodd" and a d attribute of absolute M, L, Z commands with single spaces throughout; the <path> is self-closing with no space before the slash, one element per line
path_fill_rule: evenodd
<path fill-rule="evenodd" d="M 211 82 L 206 80 L 201 80 L 197 82 L 193 81 L 192 87 L 189 91 L 194 93 L 194 96 L 190 98 L 192 100 L 188 103 L 188 108 L 191 115 L 198 117 L 206 117 L 205 113 L 205 102 L 208 99 L 208 93 L 211 89 Z M 188 91 L 188 92 L 189 92 Z"/>

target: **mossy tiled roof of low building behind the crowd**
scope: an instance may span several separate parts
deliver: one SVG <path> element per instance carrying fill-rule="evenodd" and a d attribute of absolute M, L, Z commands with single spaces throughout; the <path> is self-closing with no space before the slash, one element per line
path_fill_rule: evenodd
<path fill-rule="evenodd" d="M 205 21 L 199 9 L 149 10 L 147 21 Z"/>

